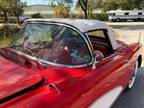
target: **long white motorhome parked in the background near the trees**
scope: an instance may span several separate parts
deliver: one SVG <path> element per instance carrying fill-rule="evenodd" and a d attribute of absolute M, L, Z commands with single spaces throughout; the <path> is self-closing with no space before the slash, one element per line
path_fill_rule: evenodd
<path fill-rule="evenodd" d="M 112 10 L 109 11 L 109 21 L 143 21 L 143 10 Z"/>

